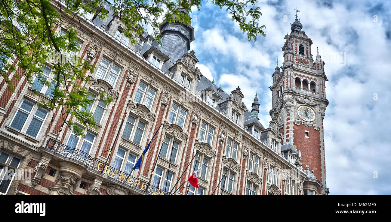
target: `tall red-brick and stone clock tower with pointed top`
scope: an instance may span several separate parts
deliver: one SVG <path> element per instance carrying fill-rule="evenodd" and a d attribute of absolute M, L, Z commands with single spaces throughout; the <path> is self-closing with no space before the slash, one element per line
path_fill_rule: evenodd
<path fill-rule="evenodd" d="M 270 124 L 280 129 L 282 144 L 289 142 L 301 151 L 303 168 L 308 166 L 303 170 L 320 181 L 314 191 L 327 193 L 323 119 L 328 105 L 325 91 L 328 79 L 318 50 L 316 60 L 312 59 L 312 40 L 302 28 L 296 14 L 291 34 L 284 38 L 283 64 L 281 67 L 277 64 L 273 85 L 269 87 L 273 95 Z"/>

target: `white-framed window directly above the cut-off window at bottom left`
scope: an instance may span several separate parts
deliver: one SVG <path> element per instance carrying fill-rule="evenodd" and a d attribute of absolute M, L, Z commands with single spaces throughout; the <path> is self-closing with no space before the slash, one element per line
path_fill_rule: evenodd
<path fill-rule="evenodd" d="M 37 137 L 47 115 L 48 110 L 38 107 L 38 105 L 27 99 L 23 99 L 14 116 L 11 127 L 32 137 Z"/>

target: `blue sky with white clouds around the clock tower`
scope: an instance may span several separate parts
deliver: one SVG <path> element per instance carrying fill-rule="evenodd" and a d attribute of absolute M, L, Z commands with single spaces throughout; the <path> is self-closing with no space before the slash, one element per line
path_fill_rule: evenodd
<path fill-rule="evenodd" d="M 290 33 L 294 8 L 303 31 L 314 42 L 312 54 L 325 60 L 324 120 L 326 179 L 330 194 L 391 194 L 391 4 L 386 1 L 259 0 L 266 37 L 247 36 L 210 1 L 193 10 L 195 41 L 191 48 L 204 76 L 230 92 L 238 85 L 247 107 L 258 92 L 260 118 L 271 120 L 271 74 L 282 61 L 284 36 Z M 334 53 L 346 57 L 333 58 Z M 314 58 L 315 59 L 315 58 Z M 280 63 L 281 65 L 281 63 Z M 376 177 L 377 178 L 374 178 Z"/>

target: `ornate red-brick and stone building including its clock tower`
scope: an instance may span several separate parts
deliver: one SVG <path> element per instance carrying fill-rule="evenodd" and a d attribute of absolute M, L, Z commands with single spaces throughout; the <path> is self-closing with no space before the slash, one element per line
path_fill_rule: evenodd
<path fill-rule="evenodd" d="M 111 11 L 108 2 L 106 9 Z M 110 12 L 104 22 L 87 13 L 81 23 L 70 22 L 79 33 L 78 55 L 96 66 L 85 73 L 90 81 L 80 84 L 93 98 L 100 92 L 113 97 L 111 103 L 88 107 L 97 129 L 76 121 L 85 138 L 74 137 L 63 124 L 61 108 L 38 106 L 50 100 L 46 86 L 15 78 L 20 68 L 8 73 L 15 92 L 0 78 L 0 194 L 328 194 L 323 141 L 327 78 L 319 54 L 312 60 L 312 41 L 298 20 L 285 36 L 283 66 L 272 75 L 273 120 L 265 128 L 257 95 L 250 112 L 240 87 L 224 92 L 195 67 L 191 24 L 162 23 L 160 43 L 143 34 L 132 45 L 120 17 Z M 55 31 L 61 34 L 63 28 Z M 48 81 L 50 67 L 43 67 Z M 131 172 L 156 130 L 140 170 Z M 206 160 L 200 188 L 185 183 Z M 180 187 L 184 183 L 189 187 Z"/>

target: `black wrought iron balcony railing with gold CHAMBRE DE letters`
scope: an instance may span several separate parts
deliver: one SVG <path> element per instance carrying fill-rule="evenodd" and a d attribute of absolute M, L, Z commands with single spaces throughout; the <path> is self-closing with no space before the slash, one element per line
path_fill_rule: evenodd
<path fill-rule="evenodd" d="M 129 175 L 128 173 L 122 172 L 114 167 L 107 165 L 106 163 L 99 161 L 95 158 L 92 158 L 88 153 L 75 149 L 69 146 L 66 146 L 59 141 L 49 139 L 46 144 L 46 149 L 51 150 L 65 158 L 71 158 L 78 162 L 83 163 L 87 167 L 100 174 L 105 175 L 106 177 L 117 180 L 118 182 L 136 188 L 142 192 L 145 192 L 149 195 L 169 195 L 169 192 L 165 192 L 162 189 L 157 188 L 151 184 L 147 184 L 143 181 L 140 181 L 137 178 Z M 104 176 L 103 176 L 104 177 Z"/>

